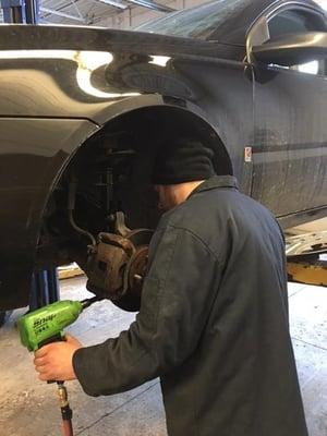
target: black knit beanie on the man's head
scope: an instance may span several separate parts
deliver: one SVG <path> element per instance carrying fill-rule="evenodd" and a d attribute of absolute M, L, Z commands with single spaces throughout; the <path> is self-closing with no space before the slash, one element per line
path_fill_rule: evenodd
<path fill-rule="evenodd" d="M 153 183 L 178 184 L 206 180 L 215 175 L 214 152 L 199 141 L 172 140 L 157 150 Z"/>

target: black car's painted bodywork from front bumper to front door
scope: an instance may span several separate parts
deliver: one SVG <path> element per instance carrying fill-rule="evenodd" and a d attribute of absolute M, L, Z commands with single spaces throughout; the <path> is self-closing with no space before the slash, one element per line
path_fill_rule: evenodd
<path fill-rule="evenodd" d="M 326 78 L 312 84 L 246 62 L 249 29 L 271 3 L 284 2 L 244 0 L 247 12 L 227 20 L 211 36 L 218 41 L 0 26 L 0 308 L 28 302 L 44 210 L 75 154 L 142 108 L 201 119 L 226 148 L 242 192 L 282 227 L 327 215 Z"/>

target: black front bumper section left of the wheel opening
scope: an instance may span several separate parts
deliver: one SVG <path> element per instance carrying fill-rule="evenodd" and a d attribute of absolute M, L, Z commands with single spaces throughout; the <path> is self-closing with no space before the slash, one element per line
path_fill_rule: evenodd
<path fill-rule="evenodd" d="M 31 271 L 51 186 L 97 126 L 87 120 L 0 119 L 0 302 L 28 303 Z M 24 141 L 22 142 L 22 138 Z"/>

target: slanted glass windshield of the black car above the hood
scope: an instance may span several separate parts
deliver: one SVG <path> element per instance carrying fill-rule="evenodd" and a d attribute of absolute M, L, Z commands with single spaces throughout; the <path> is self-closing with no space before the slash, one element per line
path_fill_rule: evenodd
<path fill-rule="evenodd" d="M 202 7 L 168 14 L 135 31 L 207 39 L 221 23 L 246 3 L 244 0 L 216 0 Z"/>

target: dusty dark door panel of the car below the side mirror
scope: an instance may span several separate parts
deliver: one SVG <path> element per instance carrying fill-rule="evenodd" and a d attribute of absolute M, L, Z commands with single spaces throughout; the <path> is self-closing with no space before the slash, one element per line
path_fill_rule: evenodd
<path fill-rule="evenodd" d="M 257 74 L 264 84 L 256 83 L 252 195 L 279 217 L 327 206 L 326 77 L 287 70 Z"/>

